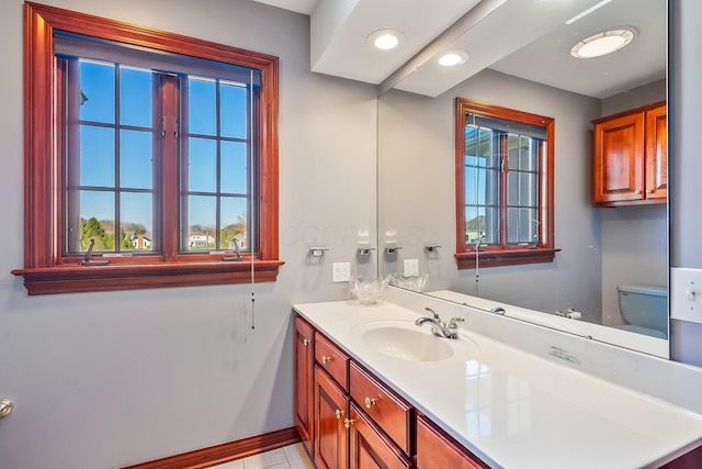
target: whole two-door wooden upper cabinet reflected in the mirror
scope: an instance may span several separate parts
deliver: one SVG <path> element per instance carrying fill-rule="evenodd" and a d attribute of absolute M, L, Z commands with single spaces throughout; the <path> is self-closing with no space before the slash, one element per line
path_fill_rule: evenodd
<path fill-rule="evenodd" d="M 665 203 L 668 196 L 666 104 L 592 121 L 592 204 Z"/>

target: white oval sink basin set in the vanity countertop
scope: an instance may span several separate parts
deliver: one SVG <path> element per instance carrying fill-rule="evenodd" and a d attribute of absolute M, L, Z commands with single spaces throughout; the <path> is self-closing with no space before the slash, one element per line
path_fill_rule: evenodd
<path fill-rule="evenodd" d="M 354 328 L 361 340 L 372 350 L 410 361 L 439 361 L 456 355 L 456 340 L 433 335 L 429 326 L 420 328 L 412 321 L 373 321 Z M 474 344 L 473 344 L 474 345 Z M 465 348 L 465 347 L 462 347 Z"/>

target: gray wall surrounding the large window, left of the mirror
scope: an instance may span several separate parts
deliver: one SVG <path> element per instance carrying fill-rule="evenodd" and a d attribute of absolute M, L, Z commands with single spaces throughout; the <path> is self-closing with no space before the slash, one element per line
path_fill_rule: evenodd
<path fill-rule="evenodd" d="M 27 298 L 10 275 L 23 263 L 23 10 L 2 0 L 0 398 L 15 410 L 0 468 L 112 468 L 292 426 L 291 306 L 346 298 L 331 263 L 375 231 L 375 87 L 312 74 L 309 19 L 251 1 L 47 3 L 280 57 L 285 265 L 256 284 L 254 330 L 246 284 Z M 307 265 L 317 243 L 325 263 Z"/>

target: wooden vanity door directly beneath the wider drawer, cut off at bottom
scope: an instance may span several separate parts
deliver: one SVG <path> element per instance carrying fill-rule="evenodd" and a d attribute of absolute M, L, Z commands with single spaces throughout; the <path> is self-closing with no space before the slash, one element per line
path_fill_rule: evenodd
<path fill-rule="evenodd" d="M 353 403 L 351 403 L 349 431 L 351 469 L 407 469 L 411 467 L 409 458 Z"/>

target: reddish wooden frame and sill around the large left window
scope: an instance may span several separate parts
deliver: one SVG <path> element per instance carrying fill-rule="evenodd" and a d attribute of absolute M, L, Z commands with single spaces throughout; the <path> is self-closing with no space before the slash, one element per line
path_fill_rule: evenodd
<path fill-rule="evenodd" d="M 24 268 L 12 273 L 24 277 L 29 294 L 274 281 L 284 264 L 279 260 L 278 57 L 32 2 L 24 5 Z M 261 70 L 256 253 L 239 263 L 207 255 L 168 261 L 139 256 L 86 267 L 82 259 L 61 258 L 55 30 Z"/>

